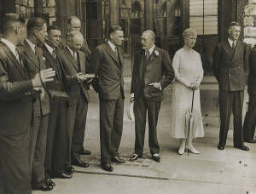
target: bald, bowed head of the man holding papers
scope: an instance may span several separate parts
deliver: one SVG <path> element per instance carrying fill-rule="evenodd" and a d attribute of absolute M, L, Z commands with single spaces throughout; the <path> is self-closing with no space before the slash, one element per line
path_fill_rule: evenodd
<path fill-rule="evenodd" d="M 67 37 L 68 47 L 77 52 L 84 43 L 83 34 L 80 31 L 70 31 Z"/>

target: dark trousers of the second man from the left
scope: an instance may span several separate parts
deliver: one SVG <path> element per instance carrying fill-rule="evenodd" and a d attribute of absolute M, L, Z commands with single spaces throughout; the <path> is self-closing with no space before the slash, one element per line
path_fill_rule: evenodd
<path fill-rule="evenodd" d="M 32 184 L 45 179 L 44 159 L 46 152 L 49 115 L 34 117 L 30 134 L 30 161 L 32 165 Z"/>

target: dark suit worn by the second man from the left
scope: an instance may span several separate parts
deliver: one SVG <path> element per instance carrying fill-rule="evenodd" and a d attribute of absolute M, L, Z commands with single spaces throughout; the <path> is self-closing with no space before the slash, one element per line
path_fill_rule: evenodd
<path fill-rule="evenodd" d="M 32 46 L 26 40 L 23 46 L 20 46 L 22 59 L 26 71 L 30 78 L 34 77 L 39 71 L 46 68 L 43 58 L 43 50 Z M 31 43 L 31 42 L 30 42 Z M 35 46 L 35 45 L 34 45 Z M 49 121 L 49 96 L 44 92 L 44 98 L 38 97 L 33 100 L 33 127 L 30 134 L 32 165 L 32 185 L 44 180 L 44 159 L 47 141 L 47 129 Z"/>

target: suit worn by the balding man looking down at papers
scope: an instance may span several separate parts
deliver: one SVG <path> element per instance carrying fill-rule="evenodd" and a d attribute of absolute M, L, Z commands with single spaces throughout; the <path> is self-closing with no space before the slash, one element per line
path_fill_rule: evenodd
<path fill-rule="evenodd" d="M 79 151 L 84 149 L 84 132 L 90 96 L 89 84 L 78 82 L 74 79 L 79 72 L 86 74 L 85 54 L 79 51 L 77 61 L 73 59 L 69 48 L 62 50 L 62 66 L 65 71 L 67 94 L 69 96 L 67 108 L 67 135 L 68 135 L 68 157 L 67 163 L 71 163 L 72 157 L 79 157 Z"/>

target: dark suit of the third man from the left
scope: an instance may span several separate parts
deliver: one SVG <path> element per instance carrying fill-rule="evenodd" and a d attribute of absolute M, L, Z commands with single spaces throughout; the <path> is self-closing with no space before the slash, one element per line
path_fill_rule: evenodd
<path fill-rule="evenodd" d="M 64 54 L 57 50 L 57 48 L 47 46 L 44 44 L 42 48 L 45 58 L 44 62 L 46 68 L 52 68 L 55 71 L 55 77 L 53 82 L 46 83 L 46 87 L 50 90 L 65 92 L 65 78 L 61 58 L 59 57 L 59 55 Z M 49 174 L 63 173 L 67 158 L 67 101 L 49 98 L 49 105 L 50 114 L 44 162 L 47 176 Z"/>

